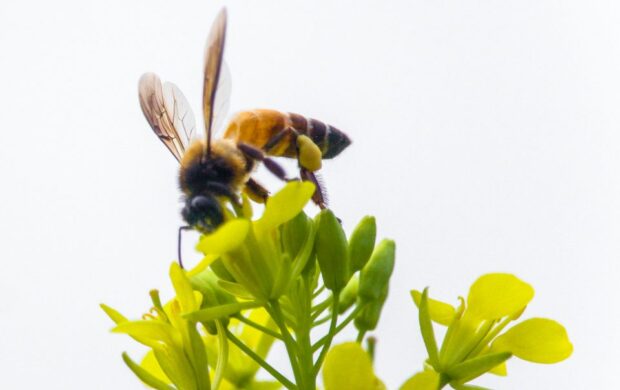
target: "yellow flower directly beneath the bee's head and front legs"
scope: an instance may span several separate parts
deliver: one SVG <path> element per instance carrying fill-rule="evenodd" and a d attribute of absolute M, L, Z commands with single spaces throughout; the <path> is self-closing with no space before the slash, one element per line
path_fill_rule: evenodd
<path fill-rule="evenodd" d="M 269 198 L 260 219 L 232 219 L 203 236 L 197 249 L 205 260 L 199 268 L 221 259 L 233 279 L 224 281 L 222 287 L 241 298 L 265 302 L 284 294 L 312 254 L 314 227 L 300 213 L 314 190 L 310 182 L 287 183 Z M 281 239 L 284 233 L 280 227 L 289 221 L 309 230 L 301 235 L 303 241 L 294 253 L 285 247 L 288 240 Z"/>

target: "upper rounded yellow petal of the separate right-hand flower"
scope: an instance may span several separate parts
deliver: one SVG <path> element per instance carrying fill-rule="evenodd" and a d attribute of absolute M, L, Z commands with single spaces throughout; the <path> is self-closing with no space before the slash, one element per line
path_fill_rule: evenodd
<path fill-rule="evenodd" d="M 534 297 L 529 284 L 511 274 L 486 274 L 469 289 L 467 310 L 474 317 L 499 319 L 525 308 Z"/>

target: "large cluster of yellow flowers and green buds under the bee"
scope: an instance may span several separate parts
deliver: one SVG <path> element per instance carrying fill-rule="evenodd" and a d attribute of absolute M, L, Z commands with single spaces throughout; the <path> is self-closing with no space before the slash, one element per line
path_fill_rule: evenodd
<path fill-rule="evenodd" d="M 162 305 L 152 292 L 153 308 L 142 319 L 102 305 L 114 332 L 150 348 L 141 364 L 123 355 L 138 378 L 157 389 L 314 390 L 334 336 L 351 322 L 360 341 L 375 329 L 394 242 L 375 246 L 372 217 L 350 238 L 330 210 L 309 218 L 303 208 L 314 191 L 312 183 L 290 182 L 258 219 L 247 199 L 228 210 L 226 222 L 201 237 L 204 258 L 196 267 L 172 264 L 175 297 Z M 284 344 L 294 378 L 267 362 L 274 342 Z M 260 368 L 275 382 L 257 381 Z"/>

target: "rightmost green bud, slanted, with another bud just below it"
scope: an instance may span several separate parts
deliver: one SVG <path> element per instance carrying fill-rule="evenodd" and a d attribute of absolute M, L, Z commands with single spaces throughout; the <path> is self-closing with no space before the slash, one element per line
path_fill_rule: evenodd
<path fill-rule="evenodd" d="M 383 240 L 377 245 L 368 264 L 360 273 L 358 295 L 362 301 L 377 300 L 387 288 L 394 270 L 396 244 L 393 240 Z"/>

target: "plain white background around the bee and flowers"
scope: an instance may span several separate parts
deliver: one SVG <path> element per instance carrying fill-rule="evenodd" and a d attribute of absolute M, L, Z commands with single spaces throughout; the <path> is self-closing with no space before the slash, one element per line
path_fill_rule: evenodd
<path fill-rule="evenodd" d="M 220 6 L 0 3 L 2 388 L 141 388 L 120 359 L 141 349 L 98 304 L 135 318 L 149 289 L 168 294 L 181 221 L 137 80 L 174 80 L 197 111 Z M 331 205 L 349 231 L 371 213 L 398 243 L 377 331 L 389 388 L 425 357 L 408 290 L 455 301 L 493 271 L 532 283 L 525 318 L 565 324 L 575 352 L 476 383 L 617 385 L 619 22 L 614 1 L 229 5 L 233 110 L 346 131 L 354 144 L 324 164 Z"/>

